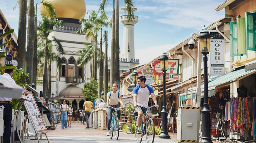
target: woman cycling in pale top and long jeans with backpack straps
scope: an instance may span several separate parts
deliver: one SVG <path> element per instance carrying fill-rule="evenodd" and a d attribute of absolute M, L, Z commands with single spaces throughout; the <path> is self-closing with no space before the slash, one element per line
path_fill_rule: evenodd
<path fill-rule="evenodd" d="M 122 106 L 124 106 L 124 103 L 122 101 L 122 96 L 120 95 L 120 92 L 117 91 L 117 84 L 113 84 L 112 86 L 112 91 L 108 92 L 107 94 L 107 106 L 106 108 L 108 108 L 108 106 L 111 106 L 113 108 L 119 108 L 118 106 L 118 99 L 120 100 L 120 104 Z M 110 130 L 110 124 L 111 124 L 111 118 L 112 118 L 112 113 L 115 109 L 113 108 L 108 108 L 108 124 L 107 124 L 107 136 L 110 136 L 109 130 Z M 117 117 L 118 120 L 120 119 L 120 115 L 121 115 L 121 111 L 120 109 L 117 109 Z"/>

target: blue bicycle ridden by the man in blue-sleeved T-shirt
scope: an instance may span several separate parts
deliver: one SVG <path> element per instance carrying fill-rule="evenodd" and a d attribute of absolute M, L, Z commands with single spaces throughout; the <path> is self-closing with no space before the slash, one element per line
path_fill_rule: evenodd
<path fill-rule="evenodd" d="M 138 106 L 138 107 L 144 107 L 144 106 Z M 141 127 L 142 132 L 140 134 L 137 134 L 137 131 L 138 131 L 138 122 L 137 122 L 137 120 L 138 120 L 138 118 L 135 121 L 135 138 L 136 138 L 137 143 L 141 143 L 142 137 L 144 135 L 146 135 L 147 143 L 153 143 L 154 142 L 155 126 L 154 126 L 153 119 L 148 116 L 148 108 L 152 108 L 152 107 L 156 107 L 156 105 L 150 106 L 150 107 L 144 107 L 144 108 L 147 108 L 146 113 L 143 113 L 146 116 L 146 121 L 145 121 L 144 129 L 143 129 L 143 122 L 142 122 L 142 119 L 141 119 L 141 126 L 140 127 Z"/>

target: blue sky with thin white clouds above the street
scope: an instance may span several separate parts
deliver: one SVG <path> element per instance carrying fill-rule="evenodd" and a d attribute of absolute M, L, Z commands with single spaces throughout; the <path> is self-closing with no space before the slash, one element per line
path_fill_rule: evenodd
<path fill-rule="evenodd" d="M 35 0 L 35 2 L 40 0 Z M 107 14 L 112 17 L 113 0 L 108 0 Z M 135 58 L 141 64 L 152 61 L 164 51 L 168 51 L 182 41 L 188 39 L 194 32 L 200 31 L 203 26 L 225 16 L 224 9 L 216 12 L 215 9 L 225 0 L 134 0 L 138 16 L 138 23 L 134 25 Z M 12 29 L 18 35 L 19 8 L 13 10 L 17 0 L 0 0 L 0 9 Z M 85 0 L 86 11 L 99 9 L 100 0 Z M 124 7 L 124 0 L 119 0 L 119 8 Z M 38 7 L 38 15 L 40 14 Z M 124 14 L 120 10 L 119 16 Z M 85 15 L 85 19 L 88 15 Z M 40 20 L 40 19 L 39 19 Z M 120 19 L 119 19 L 120 20 Z M 119 22 L 119 44 L 122 53 L 124 25 Z M 108 37 L 110 56 L 111 31 Z M 104 47 L 104 46 L 103 46 Z"/>

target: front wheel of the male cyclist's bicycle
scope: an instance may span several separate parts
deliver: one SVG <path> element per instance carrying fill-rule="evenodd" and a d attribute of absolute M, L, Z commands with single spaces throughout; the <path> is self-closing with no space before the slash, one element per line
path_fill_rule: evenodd
<path fill-rule="evenodd" d="M 152 118 L 147 119 L 146 139 L 147 143 L 153 143 L 155 139 L 155 126 Z"/>

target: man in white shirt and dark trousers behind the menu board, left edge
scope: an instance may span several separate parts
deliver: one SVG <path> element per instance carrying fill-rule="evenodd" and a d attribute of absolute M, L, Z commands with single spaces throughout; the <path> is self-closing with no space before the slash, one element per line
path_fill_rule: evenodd
<path fill-rule="evenodd" d="M 12 66 L 12 65 L 7 65 Z M 13 74 L 12 69 L 5 69 L 4 74 L 2 75 L 3 78 L 10 81 L 13 85 L 15 85 L 15 81 L 11 78 Z M 26 91 L 23 92 L 22 95 L 27 96 L 28 93 Z M 6 97 L 0 97 L 0 106 L 4 106 L 3 109 L 3 121 L 4 121 L 4 134 L 3 134 L 3 142 L 10 143 L 11 139 L 11 119 L 12 119 L 12 104 L 11 98 L 6 95 Z"/>

